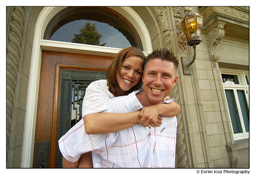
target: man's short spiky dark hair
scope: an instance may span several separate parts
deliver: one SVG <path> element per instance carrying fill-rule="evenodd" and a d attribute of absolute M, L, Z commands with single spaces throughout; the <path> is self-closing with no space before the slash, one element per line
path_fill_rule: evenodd
<path fill-rule="evenodd" d="M 161 59 L 161 60 L 167 60 L 167 61 L 173 62 L 176 70 L 178 69 L 178 66 L 179 66 L 179 60 L 168 49 L 160 48 L 159 50 L 158 49 L 154 50 L 152 53 L 148 54 L 144 62 L 144 69 L 148 61 L 151 59 Z"/>

